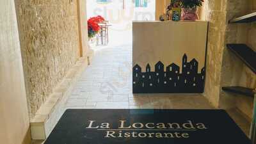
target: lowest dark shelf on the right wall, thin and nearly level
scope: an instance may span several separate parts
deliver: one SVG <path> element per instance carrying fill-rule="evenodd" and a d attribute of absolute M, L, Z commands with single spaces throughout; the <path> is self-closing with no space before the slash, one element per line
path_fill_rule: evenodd
<path fill-rule="evenodd" d="M 241 86 L 222 87 L 222 90 L 227 91 L 227 92 L 245 95 L 247 97 L 254 97 L 254 95 L 255 95 L 255 91 L 252 88 L 244 88 Z"/>

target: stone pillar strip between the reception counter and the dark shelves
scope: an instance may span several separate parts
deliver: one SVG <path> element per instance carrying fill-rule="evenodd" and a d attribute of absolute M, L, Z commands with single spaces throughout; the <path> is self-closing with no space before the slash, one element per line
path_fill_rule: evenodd
<path fill-rule="evenodd" d="M 224 39 L 227 27 L 227 0 L 205 1 L 205 20 L 209 21 L 205 97 L 218 108 Z"/>

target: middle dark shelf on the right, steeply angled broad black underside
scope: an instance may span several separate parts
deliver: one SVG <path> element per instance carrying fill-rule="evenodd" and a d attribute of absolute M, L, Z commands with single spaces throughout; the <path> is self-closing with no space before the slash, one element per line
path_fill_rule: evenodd
<path fill-rule="evenodd" d="M 236 54 L 255 74 L 256 74 L 256 52 L 245 44 L 227 44 L 234 54 Z"/>

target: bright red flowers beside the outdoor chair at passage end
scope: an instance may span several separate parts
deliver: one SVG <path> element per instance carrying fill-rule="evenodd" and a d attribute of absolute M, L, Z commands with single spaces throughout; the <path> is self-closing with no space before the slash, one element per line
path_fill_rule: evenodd
<path fill-rule="evenodd" d="M 103 22 L 105 19 L 98 15 L 97 17 L 91 17 L 88 19 L 88 36 L 93 38 L 100 31 L 99 22 Z"/>

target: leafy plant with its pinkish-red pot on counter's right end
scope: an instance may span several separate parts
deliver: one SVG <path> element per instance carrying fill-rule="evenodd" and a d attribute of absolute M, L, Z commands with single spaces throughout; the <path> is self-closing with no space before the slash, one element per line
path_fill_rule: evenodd
<path fill-rule="evenodd" d="M 182 20 L 198 20 L 198 7 L 202 6 L 204 0 L 180 0 L 182 6 Z"/>

